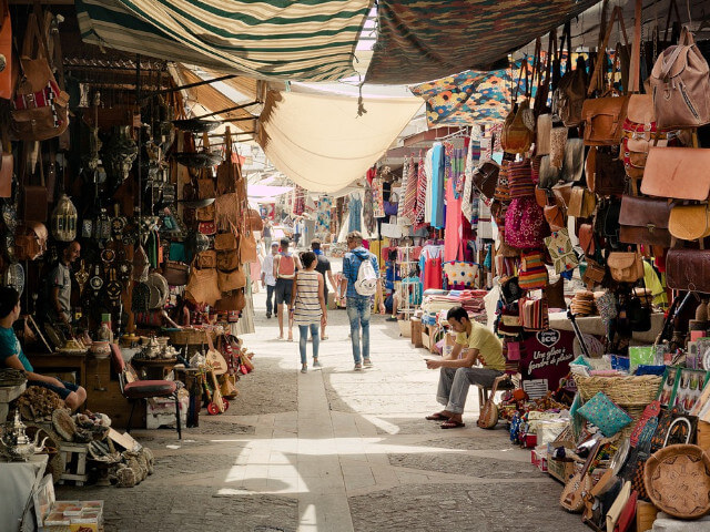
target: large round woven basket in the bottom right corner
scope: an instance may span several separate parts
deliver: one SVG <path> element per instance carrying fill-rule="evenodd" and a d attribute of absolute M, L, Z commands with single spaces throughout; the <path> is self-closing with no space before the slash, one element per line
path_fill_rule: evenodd
<path fill-rule="evenodd" d="M 698 446 L 668 446 L 651 454 L 643 469 L 649 499 L 680 519 L 710 512 L 710 456 Z"/>

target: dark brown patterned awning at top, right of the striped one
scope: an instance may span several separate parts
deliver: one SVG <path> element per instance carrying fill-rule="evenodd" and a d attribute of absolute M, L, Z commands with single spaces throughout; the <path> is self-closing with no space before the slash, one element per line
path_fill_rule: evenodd
<path fill-rule="evenodd" d="M 489 70 L 598 0 L 379 0 L 365 81 L 420 83 Z"/>

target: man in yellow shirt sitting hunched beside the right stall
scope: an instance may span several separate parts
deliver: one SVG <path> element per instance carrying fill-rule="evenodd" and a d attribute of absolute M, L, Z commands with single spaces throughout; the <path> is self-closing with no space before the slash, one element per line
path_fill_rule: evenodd
<path fill-rule="evenodd" d="M 446 318 L 456 332 L 456 345 L 442 360 L 427 360 L 429 369 L 440 368 L 436 400 L 446 408 L 426 419 L 444 421 L 443 429 L 465 427 L 463 421 L 466 396 L 470 385 L 491 388 L 496 379 L 504 377 L 506 361 L 498 337 L 480 324 L 468 319 L 463 307 L 452 308 Z M 483 368 L 474 368 L 476 360 Z M 481 405 L 483 406 L 483 405 Z"/>

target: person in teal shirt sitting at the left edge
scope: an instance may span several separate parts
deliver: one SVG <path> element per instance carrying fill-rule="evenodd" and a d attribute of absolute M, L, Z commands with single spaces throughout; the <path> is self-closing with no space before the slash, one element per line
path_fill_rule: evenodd
<path fill-rule="evenodd" d="M 29 386 L 42 386 L 58 393 L 72 410 L 87 400 L 81 386 L 36 374 L 24 356 L 12 324 L 20 317 L 20 295 L 14 288 L 0 287 L 0 367 L 23 370 Z"/>

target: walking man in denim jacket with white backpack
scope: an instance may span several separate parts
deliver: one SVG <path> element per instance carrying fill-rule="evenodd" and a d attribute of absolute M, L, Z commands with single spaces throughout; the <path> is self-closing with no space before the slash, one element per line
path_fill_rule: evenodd
<path fill-rule="evenodd" d="M 341 300 L 345 294 L 347 317 L 351 320 L 353 359 L 355 370 L 359 371 L 363 365 L 366 368 L 373 365 L 369 359 L 369 313 L 373 295 L 377 295 L 381 314 L 385 314 L 385 304 L 382 297 L 377 257 L 363 247 L 363 235 L 358 231 L 347 234 L 347 247 L 349 253 L 346 253 L 343 258 Z"/>

